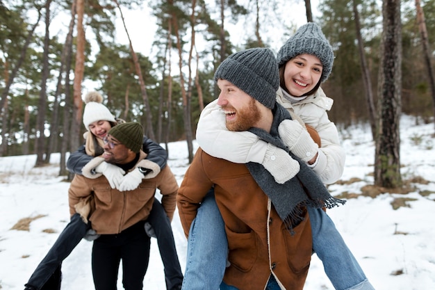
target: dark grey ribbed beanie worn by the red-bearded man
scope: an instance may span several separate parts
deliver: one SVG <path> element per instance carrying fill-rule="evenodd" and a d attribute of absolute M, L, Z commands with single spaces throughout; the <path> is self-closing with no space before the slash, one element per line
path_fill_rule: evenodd
<path fill-rule="evenodd" d="M 246 49 L 231 54 L 217 67 L 215 81 L 218 79 L 233 83 L 264 106 L 274 107 L 279 72 L 270 49 Z"/>

